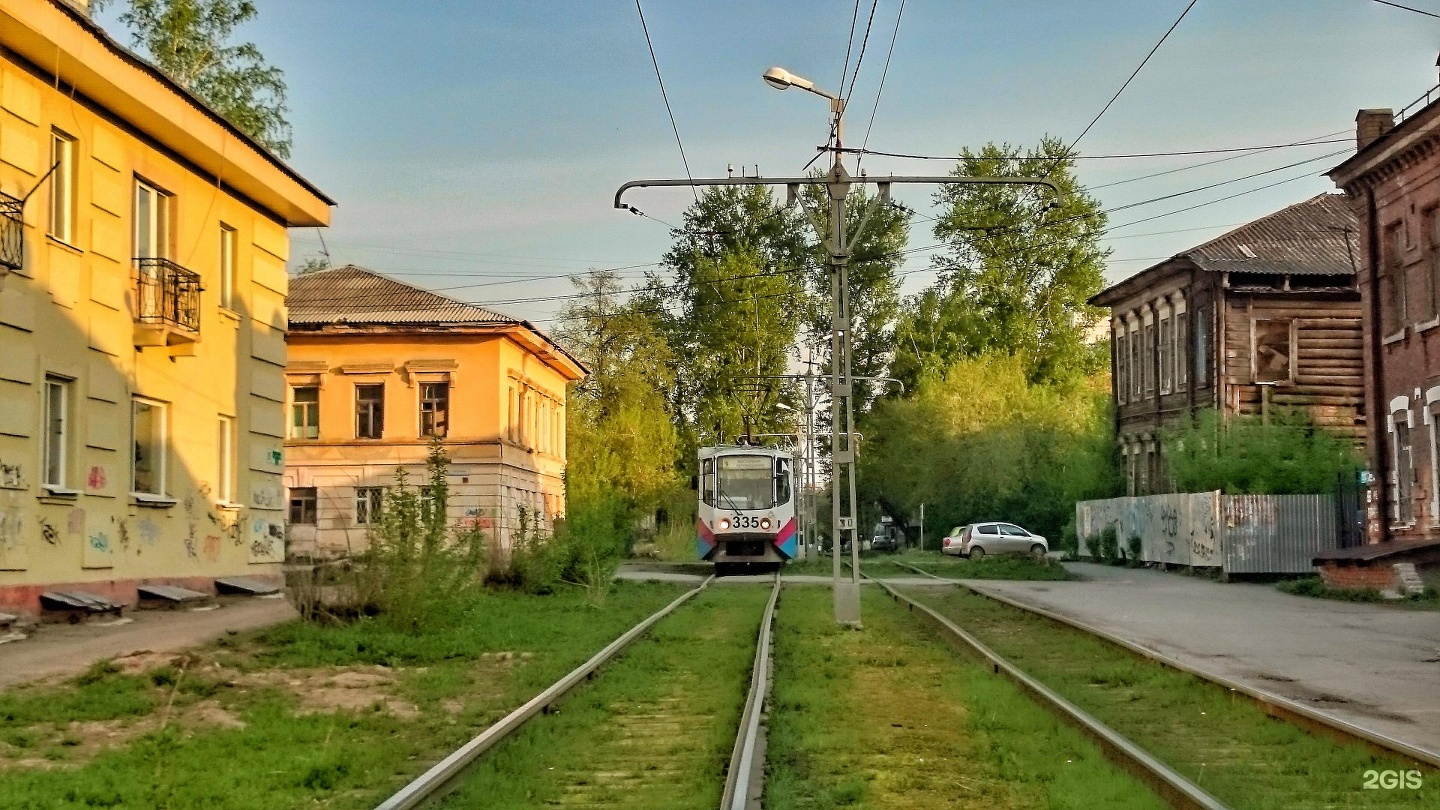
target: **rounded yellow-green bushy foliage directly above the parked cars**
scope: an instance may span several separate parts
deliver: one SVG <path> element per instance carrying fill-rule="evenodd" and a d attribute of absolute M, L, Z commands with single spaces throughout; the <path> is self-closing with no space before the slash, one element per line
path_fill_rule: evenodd
<path fill-rule="evenodd" d="M 1117 491 L 1103 379 L 1035 383 L 1015 356 L 953 363 L 864 427 L 861 502 L 958 526 L 1012 520 L 1060 536 L 1076 500 Z"/>

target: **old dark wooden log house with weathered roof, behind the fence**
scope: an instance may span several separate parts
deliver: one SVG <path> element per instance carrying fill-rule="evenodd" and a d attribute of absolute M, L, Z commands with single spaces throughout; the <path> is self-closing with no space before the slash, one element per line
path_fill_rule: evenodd
<path fill-rule="evenodd" d="M 1172 491 L 1166 432 L 1195 412 L 1303 409 L 1359 440 L 1365 401 L 1355 216 L 1320 195 L 1149 267 L 1110 308 L 1115 435 L 1129 494 Z"/>

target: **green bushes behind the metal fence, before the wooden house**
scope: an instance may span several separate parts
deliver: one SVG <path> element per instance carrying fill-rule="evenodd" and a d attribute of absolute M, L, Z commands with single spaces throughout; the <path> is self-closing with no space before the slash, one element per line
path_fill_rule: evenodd
<path fill-rule="evenodd" d="M 1316 428 L 1299 411 L 1277 411 L 1263 422 L 1221 421 L 1207 409 L 1164 442 L 1176 491 L 1325 494 L 1362 466 L 1351 440 Z"/>

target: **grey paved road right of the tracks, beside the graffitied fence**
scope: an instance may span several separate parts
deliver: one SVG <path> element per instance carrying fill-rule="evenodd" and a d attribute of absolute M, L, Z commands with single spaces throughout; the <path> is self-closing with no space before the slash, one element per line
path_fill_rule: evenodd
<path fill-rule="evenodd" d="M 1440 613 L 1148 569 L 1066 566 L 1087 581 L 966 584 L 1440 751 Z"/>

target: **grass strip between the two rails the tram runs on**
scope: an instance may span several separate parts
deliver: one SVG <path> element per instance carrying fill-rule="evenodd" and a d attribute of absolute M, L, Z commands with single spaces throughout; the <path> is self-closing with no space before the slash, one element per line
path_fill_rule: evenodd
<path fill-rule="evenodd" d="M 717 807 L 769 592 L 707 588 L 487 754 L 442 806 Z"/>

